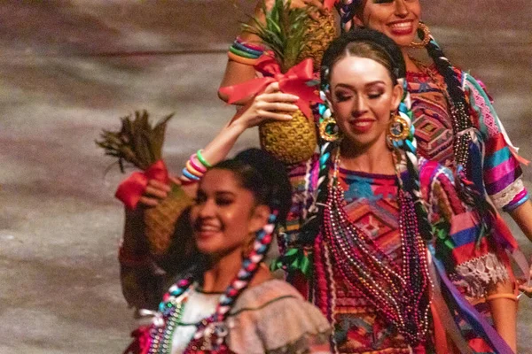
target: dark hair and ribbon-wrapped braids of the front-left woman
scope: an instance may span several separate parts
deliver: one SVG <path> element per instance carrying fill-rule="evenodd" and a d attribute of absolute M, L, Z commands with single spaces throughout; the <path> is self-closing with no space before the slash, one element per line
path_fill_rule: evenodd
<path fill-rule="evenodd" d="M 292 189 L 285 172 L 285 165 L 265 151 L 258 149 L 244 150 L 235 158 L 213 166 L 213 169 L 231 171 L 240 185 L 252 192 L 255 203 L 269 206 L 271 214 L 268 224 L 257 231 L 253 250 L 243 259 L 239 273 L 231 281 L 230 286 L 225 289 L 223 296 L 220 297 L 215 313 L 201 322 L 184 353 L 197 352 L 200 348 L 206 348 L 205 345 L 215 350 L 215 352 L 227 350 L 227 344 L 225 343 L 227 328 L 224 327 L 223 321 L 227 318 L 231 307 L 239 296 L 249 286 L 254 274 L 268 253 L 274 229 L 278 222 L 286 220 L 292 197 Z M 198 273 L 196 272 L 177 281 L 168 290 L 168 294 L 163 297 L 159 308 L 162 318 L 159 321 L 160 326 L 157 326 L 156 321 L 152 328 L 152 341 L 150 342 L 150 350 L 152 351 L 150 352 L 158 352 L 157 348 L 160 345 L 164 345 L 165 341 L 168 341 L 165 331 L 161 327 L 164 326 L 165 319 L 168 322 L 168 320 L 171 321 L 176 318 L 176 307 L 174 305 L 178 303 L 176 299 L 184 295 L 186 289 L 190 287 L 197 276 Z M 170 322 L 170 325 L 174 326 L 175 324 Z"/>

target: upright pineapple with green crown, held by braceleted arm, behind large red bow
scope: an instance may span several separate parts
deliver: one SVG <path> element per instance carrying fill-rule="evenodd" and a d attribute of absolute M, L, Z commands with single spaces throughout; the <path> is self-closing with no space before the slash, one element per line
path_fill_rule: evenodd
<path fill-rule="evenodd" d="M 244 30 L 257 35 L 262 43 L 273 51 L 283 73 L 301 60 L 305 25 L 309 15 L 305 9 L 292 9 L 290 1 L 275 0 L 270 12 L 262 4 L 266 22 L 253 19 L 252 25 L 243 25 Z M 316 127 L 301 111 L 293 113 L 288 122 L 270 121 L 259 127 L 263 150 L 291 165 L 309 159 L 317 146 Z"/>

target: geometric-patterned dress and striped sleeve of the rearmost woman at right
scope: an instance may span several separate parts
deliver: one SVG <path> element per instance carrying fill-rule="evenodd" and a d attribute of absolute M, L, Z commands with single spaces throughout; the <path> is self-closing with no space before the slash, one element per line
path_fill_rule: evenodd
<path fill-rule="evenodd" d="M 454 169 L 450 110 L 440 89 L 444 81 L 434 65 L 428 70 L 439 82 L 432 81 L 426 73 L 407 73 L 419 155 Z M 466 73 L 459 75 L 471 105 L 473 127 L 485 147 L 482 161 L 486 191 L 497 208 L 512 211 L 528 200 L 528 191 L 520 180 L 517 151 L 481 85 Z M 469 166 L 475 167 L 478 166 Z"/>

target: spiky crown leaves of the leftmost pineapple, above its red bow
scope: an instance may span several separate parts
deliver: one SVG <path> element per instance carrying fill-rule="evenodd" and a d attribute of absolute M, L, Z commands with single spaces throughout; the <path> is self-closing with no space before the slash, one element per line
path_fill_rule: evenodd
<path fill-rule="evenodd" d="M 118 158 L 121 172 L 124 172 L 124 161 L 146 170 L 161 158 L 162 144 L 168 120 L 174 113 L 160 119 L 153 127 L 148 112 L 136 111 L 132 115 L 121 118 L 121 130 L 104 129 L 100 141 L 96 144 L 106 150 L 106 155 Z"/>

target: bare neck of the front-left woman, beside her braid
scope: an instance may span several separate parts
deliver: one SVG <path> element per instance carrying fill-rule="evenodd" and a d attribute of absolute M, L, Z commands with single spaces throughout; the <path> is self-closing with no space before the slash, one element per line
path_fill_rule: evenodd
<path fill-rule="evenodd" d="M 211 257 L 210 266 L 203 273 L 203 290 L 223 292 L 239 273 L 242 266 L 242 250 L 239 248 L 221 257 Z"/>

